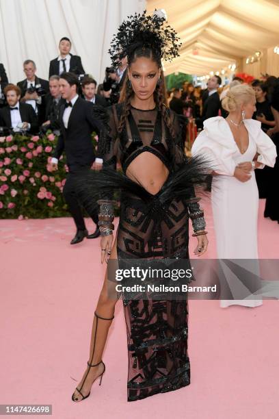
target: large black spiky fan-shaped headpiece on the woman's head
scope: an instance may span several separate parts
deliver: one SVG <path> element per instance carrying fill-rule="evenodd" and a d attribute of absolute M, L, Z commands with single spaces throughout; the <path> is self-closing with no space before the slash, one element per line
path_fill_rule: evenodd
<path fill-rule="evenodd" d="M 159 59 L 172 61 L 178 57 L 178 49 L 181 43 L 176 31 L 166 25 L 166 15 L 163 10 L 155 10 L 153 16 L 135 13 L 129 16 L 118 27 L 118 33 L 111 41 L 109 54 L 113 66 L 118 67 L 120 60 L 129 57 L 139 47 L 150 48 Z"/>

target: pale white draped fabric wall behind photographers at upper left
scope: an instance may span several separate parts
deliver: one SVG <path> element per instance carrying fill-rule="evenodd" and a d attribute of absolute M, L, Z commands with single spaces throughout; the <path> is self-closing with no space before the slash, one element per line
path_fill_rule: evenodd
<path fill-rule="evenodd" d="M 103 81 L 112 35 L 144 7 L 145 0 L 0 0 L 0 62 L 14 83 L 25 78 L 27 59 L 36 62 L 38 77 L 47 79 L 59 39 L 67 36 L 85 71 Z"/>

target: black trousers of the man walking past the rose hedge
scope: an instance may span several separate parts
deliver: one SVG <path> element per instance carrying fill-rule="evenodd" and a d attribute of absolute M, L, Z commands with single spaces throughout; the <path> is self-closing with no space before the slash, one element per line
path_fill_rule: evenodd
<path fill-rule="evenodd" d="M 72 214 L 72 218 L 74 218 L 75 225 L 77 226 L 78 230 L 86 229 L 81 211 L 81 206 L 85 208 L 86 212 L 88 212 L 88 215 L 92 218 L 94 223 L 96 225 L 98 223 L 98 211 L 89 209 L 88 204 L 85 203 L 85 200 L 82 199 L 81 194 L 79 194 L 77 191 L 77 177 L 79 177 L 79 179 L 82 180 L 82 177 L 85 177 L 89 170 L 90 168 L 70 170 L 70 172 L 67 175 L 66 183 L 63 190 L 64 198 L 68 205 L 68 210 L 70 214 Z"/>

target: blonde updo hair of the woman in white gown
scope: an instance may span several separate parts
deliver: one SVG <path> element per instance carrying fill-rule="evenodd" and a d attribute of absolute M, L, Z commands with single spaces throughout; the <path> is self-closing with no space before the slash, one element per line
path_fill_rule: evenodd
<path fill-rule="evenodd" d="M 226 97 L 222 100 L 222 107 L 228 112 L 234 112 L 252 99 L 255 99 L 254 89 L 248 84 L 239 84 L 228 90 Z"/>

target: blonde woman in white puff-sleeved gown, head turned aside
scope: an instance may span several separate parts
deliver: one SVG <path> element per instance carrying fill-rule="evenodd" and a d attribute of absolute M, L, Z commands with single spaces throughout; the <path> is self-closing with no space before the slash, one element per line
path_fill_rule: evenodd
<path fill-rule="evenodd" d="M 256 99 L 247 84 L 230 88 L 222 101 L 227 118 L 204 121 L 193 155 L 206 155 L 213 167 L 211 203 L 218 259 L 258 259 L 258 187 L 254 169 L 273 167 L 276 147 L 253 120 Z M 221 307 L 261 305 L 261 299 L 222 300 Z"/>

